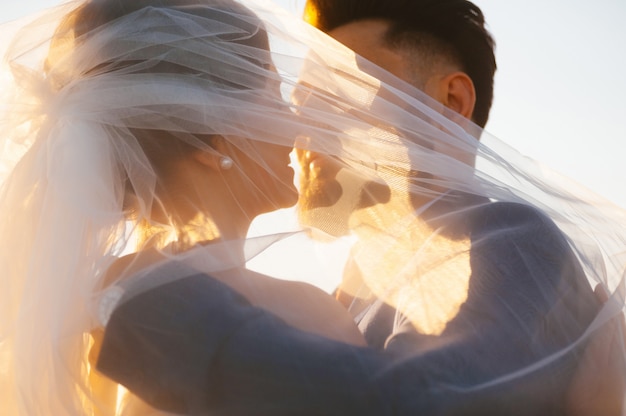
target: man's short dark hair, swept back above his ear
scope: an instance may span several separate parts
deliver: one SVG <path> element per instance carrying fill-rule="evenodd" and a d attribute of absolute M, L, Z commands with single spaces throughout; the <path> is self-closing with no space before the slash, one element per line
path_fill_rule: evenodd
<path fill-rule="evenodd" d="M 391 23 L 385 41 L 415 46 L 423 36 L 438 40 L 454 51 L 454 59 L 476 89 L 472 120 L 484 127 L 493 101 L 496 71 L 495 42 L 485 28 L 478 6 L 467 0 L 307 0 L 305 19 L 324 32 L 364 19 Z M 413 36 L 412 36 L 413 35 Z"/>

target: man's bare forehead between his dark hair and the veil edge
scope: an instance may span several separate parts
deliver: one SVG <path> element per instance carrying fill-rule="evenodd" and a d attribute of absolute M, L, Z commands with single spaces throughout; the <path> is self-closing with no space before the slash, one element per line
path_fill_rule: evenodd
<path fill-rule="evenodd" d="M 411 82 L 409 63 L 405 56 L 385 43 L 389 22 L 385 20 L 360 20 L 339 26 L 328 32 L 363 58 L 386 69 L 404 81 Z"/>

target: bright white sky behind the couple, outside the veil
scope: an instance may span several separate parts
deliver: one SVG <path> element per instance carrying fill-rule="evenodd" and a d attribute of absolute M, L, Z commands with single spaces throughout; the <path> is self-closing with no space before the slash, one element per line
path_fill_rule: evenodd
<path fill-rule="evenodd" d="M 304 0 L 276 0 L 300 14 Z M 626 1 L 474 0 L 497 42 L 487 130 L 626 207 Z M 0 5 L 0 22 L 59 0 Z"/>

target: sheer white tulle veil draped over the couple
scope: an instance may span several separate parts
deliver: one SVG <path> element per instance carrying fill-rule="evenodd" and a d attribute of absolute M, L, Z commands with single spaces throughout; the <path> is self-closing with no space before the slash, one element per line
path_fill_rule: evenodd
<path fill-rule="evenodd" d="M 536 209 L 560 236 L 554 244 L 584 273 L 562 270 L 566 283 L 550 293 L 540 293 L 538 283 L 537 296 L 576 309 L 575 296 L 562 287 L 571 273 L 580 291 L 600 285 L 610 298 L 597 311 L 588 296 L 581 300 L 585 312 L 567 317 L 580 318 L 579 334 L 564 336 L 535 361 L 475 382 L 443 374 L 441 391 L 481 391 L 550 368 L 623 313 L 621 208 L 272 3 L 237 3 L 253 13 L 224 0 L 155 5 L 78 33 L 80 25 L 66 16 L 84 4 L 69 2 L 3 28 L 3 41 L 10 39 L 0 120 L 3 414 L 145 414 L 140 402 L 123 405 L 128 395 L 94 370 L 90 354 L 120 296 L 129 301 L 189 270 L 211 275 L 247 263 L 329 292 L 339 287 L 353 303 L 380 299 L 418 333 L 438 336 L 467 302 L 472 248 L 513 239 L 523 253 L 528 243 L 525 235 L 514 240 L 515 224 L 485 226 L 479 236 L 455 235 L 446 225 L 462 228 L 464 218 L 493 203 Z M 167 132 L 158 140 L 217 160 L 207 137 L 223 137 L 239 155 L 231 192 L 260 207 L 248 219 L 279 211 L 256 218 L 248 239 L 231 238 L 207 215 L 225 196 L 216 191 L 202 206 L 206 201 L 193 197 L 204 186 L 198 181 L 182 194 L 192 195 L 193 218 L 164 215 L 167 172 L 149 161 L 147 131 Z M 277 162 L 268 145 L 299 149 L 292 165 L 300 158 L 305 167 L 296 183 L 317 172 L 314 154 L 332 160 L 336 175 L 318 178 L 326 187 L 307 191 L 301 184 L 313 203 L 289 208 L 289 160 Z M 250 160 L 254 169 L 241 167 Z M 121 256 L 148 250 L 157 260 L 115 267 Z M 160 280 L 146 278 L 174 263 L 180 267 L 161 271 Z M 511 316 L 523 320 L 524 308 L 511 304 Z"/>

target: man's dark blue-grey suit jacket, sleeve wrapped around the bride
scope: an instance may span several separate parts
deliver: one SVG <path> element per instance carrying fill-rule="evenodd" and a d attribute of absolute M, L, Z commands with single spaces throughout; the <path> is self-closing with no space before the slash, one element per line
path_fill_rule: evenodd
<path fill-rule="evenodd" d="M 563 234 L 512 203 L 480 204 L 444 227 L 471 238 L 472 274 L 440 336 L 418 334 L 379 301 L 361 322 L 370 347 L 345 345 L 195 274 L 122 303 L 98 368 L 193 415 L 562 414 L 580 352 L 566 347 L 598 310 Z"/>

